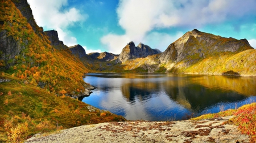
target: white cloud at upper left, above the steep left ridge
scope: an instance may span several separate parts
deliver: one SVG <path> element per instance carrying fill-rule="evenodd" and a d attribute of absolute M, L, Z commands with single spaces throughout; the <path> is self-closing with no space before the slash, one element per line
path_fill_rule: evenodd
<path fill-rule="evenodd" d="M 76 8 L 62 10 L 68 5 L 68 0 L 40 1 L 28 0 L 36 23 L 44 29 L 55 29 L 59 34 L 59 39 L 67 46 L 76 45 L 76 37 L 70 36 L 67 28 L 88 18 L 88 15 L 81 14 Z"/>

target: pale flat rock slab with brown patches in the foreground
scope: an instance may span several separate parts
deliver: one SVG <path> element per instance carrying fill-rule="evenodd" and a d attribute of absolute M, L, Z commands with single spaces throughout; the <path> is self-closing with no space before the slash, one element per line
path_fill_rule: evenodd
<path fill-rule="evenodd" d="M 230 118 L 82 125 L 54 135 L 36 135 L 26 142 L 249 142 L 236 125 L 223 124 Z"/>

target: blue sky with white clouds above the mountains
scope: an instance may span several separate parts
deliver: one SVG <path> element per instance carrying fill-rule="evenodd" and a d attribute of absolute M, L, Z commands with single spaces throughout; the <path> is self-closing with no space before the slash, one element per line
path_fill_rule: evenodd
<path fill-rule="evenodd" d="M 27 0 L 44 31 L 86 53 L 120 54 L 130 41 L 164 51 L 188 31 L 246 38 L 256 49 L 255 0 Z"/>

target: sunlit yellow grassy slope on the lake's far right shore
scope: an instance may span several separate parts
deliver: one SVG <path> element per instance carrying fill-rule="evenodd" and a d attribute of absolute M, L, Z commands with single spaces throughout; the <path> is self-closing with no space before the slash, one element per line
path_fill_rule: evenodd
<path fill-rule="evenodd" d="M 228 75 L 230 72 L 231 75 L 237 73 L 241 76 L 256 76 L 256 50 L 245 50 L 237 54 L 222 53 L 201 59 L 188 67 L 183 65 L 184 62 L 179 62 L 174 67 L 166 68 L 169 72 L 176 73 Z"/>

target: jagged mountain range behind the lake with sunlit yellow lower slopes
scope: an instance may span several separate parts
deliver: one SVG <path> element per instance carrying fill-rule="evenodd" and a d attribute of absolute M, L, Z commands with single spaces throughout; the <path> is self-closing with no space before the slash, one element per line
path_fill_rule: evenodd
<path fill-rule="evenodd" d="M 14 2 L 20 8 L 20 12 L 29 19 L 28 23 L 39 37 L 49 41 L 56 50 L 71 52 L 84 64 L 88 72 L 171 72 L 256 76 L 255 50 L 246 39 L 225 38 L 193 29 L 170 44 L 163 52 L 142 43 L 135 46 L 131 41 L 123 47 L 119 55 L 108 52 L 86 54 L 81 45 L 70 47 L 64 45 L 59 40 L 57 31 L 43 32 L 43 28 L 39 28 L 34 20 L 30 20 L 31 10 L 22 8 L 27 6 L 26 1 Z M 2 39 L 0 50 L 4 54 L 0 58 L 5 62 L 5 67 L 2 68 L 8 69 L 15 64 L 9 60 L 19 55 L 23 47 L 15 49 L 15 43 L 10 43 L 13 46 L 6 45 L 6 41 L 8 40 Z M 9 48 L 6 50 L 5 47 Z"/>

